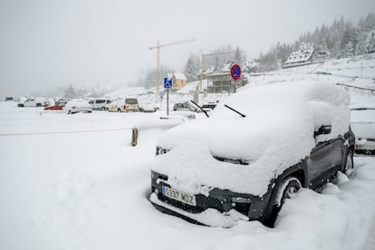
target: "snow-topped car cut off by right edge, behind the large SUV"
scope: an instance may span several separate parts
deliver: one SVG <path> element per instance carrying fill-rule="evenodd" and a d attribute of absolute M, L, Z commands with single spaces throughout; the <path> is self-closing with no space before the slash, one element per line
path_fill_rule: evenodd
<path fill-rule="evenodd" d="M 375 105 L 351 106 L 351 130 L 356 137 L 355 153 L 375 155 Z"/>

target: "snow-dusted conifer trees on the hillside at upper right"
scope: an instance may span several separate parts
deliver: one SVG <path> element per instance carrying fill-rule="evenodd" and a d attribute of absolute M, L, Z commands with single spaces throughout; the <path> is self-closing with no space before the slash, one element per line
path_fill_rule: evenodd
<path fill-rule="evenodd" d="M 331 58 L 374 53 L 375 14 L 361 17 L 356 25 L 341 16 L 340 20 L 334 20 L 330 26 L 322 24 L 313 32 L 302 34 L 294 43 L 276 43 L 267 53 L 261 53 L 255 59 L 259 64 L 259 71 L 276 69 L 303 43 L 312 44 L 315 49 L 326 52 Z"/>

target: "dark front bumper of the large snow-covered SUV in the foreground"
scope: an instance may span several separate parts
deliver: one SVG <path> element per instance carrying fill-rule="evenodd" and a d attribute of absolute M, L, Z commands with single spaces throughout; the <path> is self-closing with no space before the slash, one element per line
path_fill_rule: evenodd
<path fill-rule="evenodd" d="M 197 206 L 191 206 L 162 194 L 162 186 L 171 187 L 168 177 L 151 171 L 152 204 L 162 212 L 174 216 L 181 216 L 190 222 L 207 225 L 231 227 L 238 220 L 259 220 L 265 222 L 270 193 L 264 197 L 254 197 L 249 194 L 239 194 L 229 190 L 210 188 L 209 192 L 195 195 Z M 172 187 L 173 188 L 173 187 Z M 238 197 L 250 202 L 235 202 Z M 210 219 L 208 219 L 210 218 Z M 215 221 L 215 222 L 213 222 Z"/>

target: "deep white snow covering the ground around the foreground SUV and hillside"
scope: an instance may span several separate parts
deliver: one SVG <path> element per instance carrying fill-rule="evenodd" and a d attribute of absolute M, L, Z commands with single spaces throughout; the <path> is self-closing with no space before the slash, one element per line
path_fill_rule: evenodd
<path fill-rule="evenodd" d="M 300 71 L 252 77 L 248 86 L 317 80 Z M 352 102 L 375 103 L 371 92 L 350 93 Z M 274 228 L 256 221 L 196 226 L 148 200 L 156 140 L 170 122 L 159 120 L 165 111 L 41 111 L 0 102 L 0 249 L 375 249 L 373 157 L 356 156 L 355 176 L 340 174 L 322 194 L 302 189 L 285 202 Z M 132 147 L 130 129 L 139 124 Z"/>

